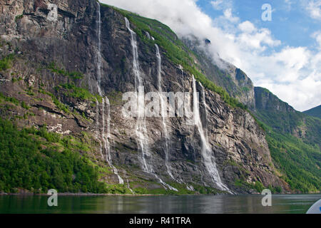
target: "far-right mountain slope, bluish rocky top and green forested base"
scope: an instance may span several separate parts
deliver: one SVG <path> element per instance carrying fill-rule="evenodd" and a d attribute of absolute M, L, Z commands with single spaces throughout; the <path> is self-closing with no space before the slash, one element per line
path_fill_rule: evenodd
<path fill-rule="evenodd" d="M 292 190 L 320 192 L 321 120 L 297 112 L 265 88 L 255 88 L 255 106 L 283 180 Z"/>

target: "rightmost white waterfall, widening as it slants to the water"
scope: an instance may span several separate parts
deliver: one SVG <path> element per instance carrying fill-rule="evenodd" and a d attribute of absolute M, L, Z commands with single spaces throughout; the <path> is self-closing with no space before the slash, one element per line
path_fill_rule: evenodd
<path fill-rule="evenodd" d="M 206 112 L 206 102 L 205 102 L 205 91 L 203 88 L 203 104 Z M 206 169 L 208 170 L 208 173 L 210 174 L 210 177 L 212 177 L 213 182 L 215 182 L 218 187 L 220 187 L 220 190 L 228 191 L 228 187 L 226 187 L 222 180 L 220 180 L 220 175 L 218 173 L 218 169 L 215 164 L 215 157 L 213 157 L 212 154 L 212 149 L 210 148 L 210 145 L 208 143 L 208 135 L 205 135 L 204 130 L 203 130 L 203 124 L 202 121 L 200 120 L 200 109 L 199 109 L 200 103 L 198 100 L 198 93 L 196 90 L 196 81 L 193 76 L 193 110 L 194 110 L 194 123 L 198 128 L 198 133 L 200 133 L 200 140 L 202 142 L 201 146 L 201 155 L 203 158 L 204 165 Z"/>

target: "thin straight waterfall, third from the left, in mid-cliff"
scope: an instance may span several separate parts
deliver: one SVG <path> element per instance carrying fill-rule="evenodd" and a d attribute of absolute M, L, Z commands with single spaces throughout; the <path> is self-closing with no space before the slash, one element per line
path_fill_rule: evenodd
<path fill-rule="evenodd" d="M 166 170 L 168 172 L 168 175 L 170 175 L 170 177 L 175 180 L 175 178 L 173 177 L 173 174 L 170 170 L 170 164 L 169 164 L 169 147 L 170 147 L 170 135 L 168 134 L 168 129 L 167 129 L 167 125 L 166 125 L 166 116 L 167 116 L 167 105 L 165 105 L 167 103 L 167 99 L 164 99 L 164 96 L 162 95 L 163 90 L 162 90 L 162 57 L 161 57 L 161 53 L 159 52 L 159 48 L 158 45 L 155 44 L 156 46 L 156 57 L 157 57 L 157 78 L 158 78 L 158 93 L 160 95 L 161 98 L 161 115 L 162 115 L 162 122 L 163 122 L 163 133 L 165 136 L 165 166 L 166 166 Z"/>

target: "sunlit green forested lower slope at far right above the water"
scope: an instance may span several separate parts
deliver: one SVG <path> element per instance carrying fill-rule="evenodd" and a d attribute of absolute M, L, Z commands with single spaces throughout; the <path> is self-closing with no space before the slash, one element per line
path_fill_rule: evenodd
<path fill-rule="evenodd" d="M 321 191 L 321 152 L 319 147 L 302 142 L 292 135 L 267 133 L 275 167 L 292 190 L 303 193 Z"/>

